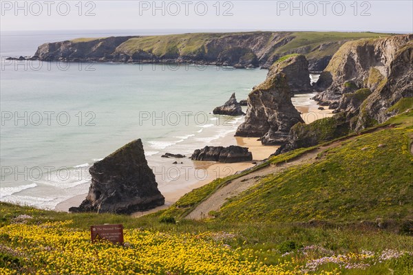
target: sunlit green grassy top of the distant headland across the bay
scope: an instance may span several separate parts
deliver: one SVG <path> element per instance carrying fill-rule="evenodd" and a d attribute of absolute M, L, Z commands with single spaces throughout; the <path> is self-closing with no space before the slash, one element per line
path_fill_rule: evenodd
<path fill-rule="evenodd" d="M 271 45 L 275 36 L 283 34 L 285 45 L 273 47 L 271 56 L 277 54 L 284 56 L 289 52 L 299 51 L 310 57 L 328 56 L 334 54 L 341 43 L 353 39 L 368 37 L 387 36 L 388 34 L 377 34 L 371 32 L 242 32 L 242 33 L 199 33 L 199 34 L 171 34 L 163 36 L 140 36 L 129 39 L 118 47 L 119 52 L 133 54 L 138 51 L 151 52 L 156 56 L 170 56 L 173 54 L 195 55 L 207 53 L 207 43 L 214 40 L 251 39 L 250 36 L 260 34 L 267 45 Z M 328 43 L 320 49 L 320 45 Z"/>

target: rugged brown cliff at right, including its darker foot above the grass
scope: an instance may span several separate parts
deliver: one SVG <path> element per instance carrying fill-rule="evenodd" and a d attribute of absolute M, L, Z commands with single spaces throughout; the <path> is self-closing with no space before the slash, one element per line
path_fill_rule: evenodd
<path fill-rule="evenodd" d="M 277 153 L 314 146 L 383 123 L 413 108 L 413 35 L 343 45 L 317 81 L 315 99 L 337 108 L 332 118 L 292 127 Z"/>

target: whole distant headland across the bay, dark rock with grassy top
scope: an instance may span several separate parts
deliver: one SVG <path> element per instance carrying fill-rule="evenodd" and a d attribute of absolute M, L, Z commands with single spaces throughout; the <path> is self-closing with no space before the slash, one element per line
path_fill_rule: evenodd
<path fill-rule="evenodd" d="M 343 43 L 385 34 L 356 32 L 237 32 L 74 39 L 41 45 L 41 61 L 195 63 L 270 67 L 286 54 L 304 54 L 312 72 L 322 71 Z"/>

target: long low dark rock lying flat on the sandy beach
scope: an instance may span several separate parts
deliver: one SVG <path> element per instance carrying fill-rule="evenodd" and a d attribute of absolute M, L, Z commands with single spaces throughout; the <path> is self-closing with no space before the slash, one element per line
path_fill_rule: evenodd
<path fill-rule="evenodd" d="M 253 160 L 253 154 L 248 152 L 248 148 L 241 146 L 205 146 L 195 150 L 191 159 L 224 163 L 249 162 Z"/>

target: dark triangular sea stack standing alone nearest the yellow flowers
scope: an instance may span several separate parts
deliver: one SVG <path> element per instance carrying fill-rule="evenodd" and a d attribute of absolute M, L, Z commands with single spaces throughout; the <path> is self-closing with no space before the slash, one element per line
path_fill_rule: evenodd
<path fill-rule="evenodd" d="M 162 206 L 155 175 L 147 164 L 141 140 L 129 142 L 89 168 L 92 184 L 86 199 L 70 212 L 131 214 Z"/>

